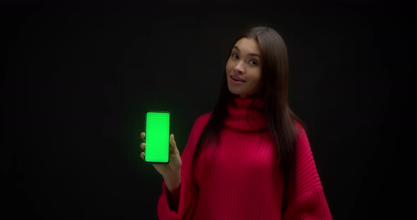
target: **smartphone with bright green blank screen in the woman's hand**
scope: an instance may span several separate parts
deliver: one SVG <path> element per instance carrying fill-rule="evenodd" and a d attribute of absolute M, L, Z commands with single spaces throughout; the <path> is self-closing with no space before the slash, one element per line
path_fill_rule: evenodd
<path fill-rule="evenodd" d="M 146 112 L 146 163 L 168 164 L 170 162 L 170 116 L 168 111 Z"/>

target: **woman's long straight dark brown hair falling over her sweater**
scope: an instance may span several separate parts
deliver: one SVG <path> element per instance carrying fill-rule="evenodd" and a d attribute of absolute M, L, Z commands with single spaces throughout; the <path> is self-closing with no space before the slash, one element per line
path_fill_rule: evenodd
<path fill-rule="evenodd" d="M 252 27 L 243 32 L 240 37 L 237 37 L 230 51 L 235 43 L 243 37 L 254 39 L 259 44 L 262 59 L 262 80 L 257 97 L 264 102 L 266 123 L 276 145 L 278 153 L 276 167 L 281 169 L 283 178 L 286 180 L 295 166 L 295 142 L 297 138 L 295 123 L 298 122 L 303 126 L 303 122 L 298 116 L 295 116 L 288 105 L 289 64 L 286 44 L 278 32 L 271 27 Z M 197 157 L 202 152 L 203 146 L 208 147 L 210 142 L 218 142 L 223 121 L 227 116 L 228 103 L 232 101 L 233 97 L 235 97 L 235 94 L 228 90 L 224 72 L 216 106 L 196 144 L 192 167 L 195 167 Z"/>

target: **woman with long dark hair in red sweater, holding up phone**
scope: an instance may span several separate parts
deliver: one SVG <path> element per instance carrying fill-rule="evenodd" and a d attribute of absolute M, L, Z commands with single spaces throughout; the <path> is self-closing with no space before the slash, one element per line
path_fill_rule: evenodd
<path fill-rule="evenodd" d="M 153 165 L 164 178 L 159 219 L 332 219 L 288 106 L 283 39 L 253 27 L 230 51 L 213 112 L 196 119 L 181 156 L 172 134 L 170 163 Z"/>

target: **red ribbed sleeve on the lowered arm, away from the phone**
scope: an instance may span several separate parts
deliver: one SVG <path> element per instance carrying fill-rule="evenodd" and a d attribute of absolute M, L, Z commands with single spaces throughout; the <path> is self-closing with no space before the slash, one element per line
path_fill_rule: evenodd
<path fill-rule="evenodd" d="M 322 183 L 317 173 L 310 142 L 304 128 L 298 126 L 295 176 L 288 185 L 284 220 L 332 219 Z"/>

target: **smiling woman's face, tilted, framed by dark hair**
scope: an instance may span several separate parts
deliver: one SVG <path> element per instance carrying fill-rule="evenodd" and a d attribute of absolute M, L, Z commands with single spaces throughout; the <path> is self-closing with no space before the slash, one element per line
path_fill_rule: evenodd
<path fill-rule="evenodd" d="M 259 92 L 262 63 L 259 46 L 254 39 L 241 38 L 233 47 L 226 63 L 229 91 L 240 97 Z"/>

